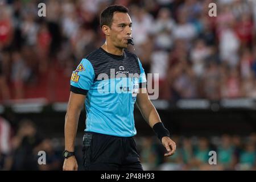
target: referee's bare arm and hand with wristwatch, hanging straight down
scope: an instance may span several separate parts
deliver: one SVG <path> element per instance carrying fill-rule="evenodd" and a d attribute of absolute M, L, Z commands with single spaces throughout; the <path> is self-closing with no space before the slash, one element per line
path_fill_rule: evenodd
<path fill-rule="evenodd" d="M 65 115 L 65 150 L 73 152 L 75 149 L 75 139 L 77 133 L 77 125 L 82 107 L 84 105 L 85 96 L 71 92 L 68 101 L 67 113 Z M 77 161 L 75 156 L 71 156 L 64 160 L 63 170 L 77 170 Z"/>

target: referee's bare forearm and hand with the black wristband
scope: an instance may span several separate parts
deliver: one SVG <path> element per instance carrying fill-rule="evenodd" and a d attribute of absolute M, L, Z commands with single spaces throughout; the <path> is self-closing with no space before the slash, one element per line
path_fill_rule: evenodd
<path fill-rule="evenodd" d="M 143 118 L 146 120 L 146 122 L 148 123 L 148 125 L 150 125 L 152 129 L 155 129 L 155 127 L 163 127 L 158 111 L 156 111 L 154 105 L 150 101 L 146 88 L 139 89 L 136 104 L 139 107 L 139 110 L 141 111 Z M 166 147 L 166 150 L 168 151 L 168 153 L 164 154 L 164 156 L 173 155 L 176 150 L 175 142 L 171 140 L 170 137 L 167 136 L 162 137 L 160 140 L 163 146 Z"/>

